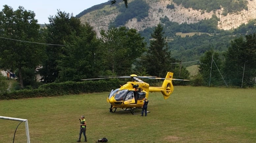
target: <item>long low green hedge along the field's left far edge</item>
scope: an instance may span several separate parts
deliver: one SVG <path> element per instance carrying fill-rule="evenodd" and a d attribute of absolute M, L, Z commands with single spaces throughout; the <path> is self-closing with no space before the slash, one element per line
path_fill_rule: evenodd
<path fill-rule="evenodd" d="M 36 98 L 36 97 L 54 97 L 79 93 L 106 92 L 119 88 L 124 82 L 119 80 L 111 81 L 67 81 L 63 83 L 48 83 L 41 85 L 38 89 L 23 89 L 9 93 L 0 94 L 0 100 Z"/>

